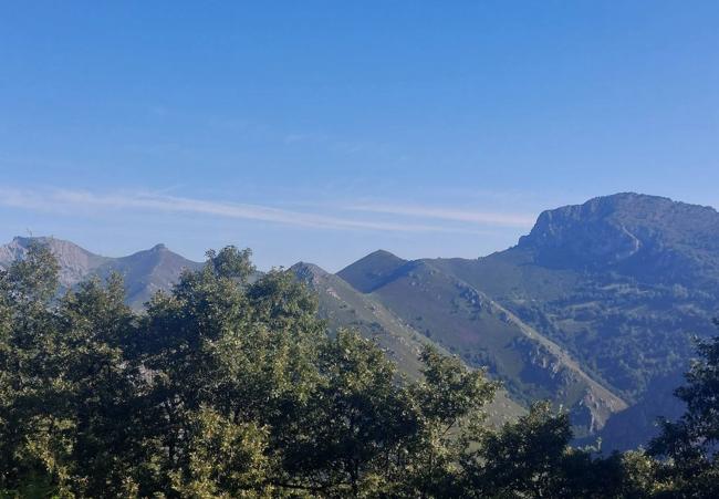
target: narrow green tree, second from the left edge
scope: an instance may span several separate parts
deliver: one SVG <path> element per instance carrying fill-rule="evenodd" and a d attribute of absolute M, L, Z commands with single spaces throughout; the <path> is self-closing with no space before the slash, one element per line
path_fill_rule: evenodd
<path fill-rule="evenodd" d="M 146 381 L 142 366 L 127 355 L 137 321 L 125 305 L 122 278 L 97 278 L 63 297 L 55 310 L 53 366 L 59 397 L 53 417 L 69 423 L 69 471 L 83 496 L 127 496 L 135 489 L 134 464 L 140 458 L 137 435 Z M 46 410 L 46 409 L 45 409 Z"/>

